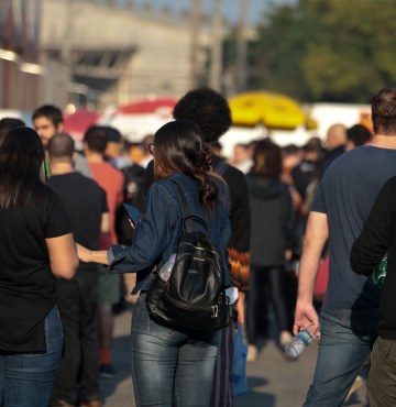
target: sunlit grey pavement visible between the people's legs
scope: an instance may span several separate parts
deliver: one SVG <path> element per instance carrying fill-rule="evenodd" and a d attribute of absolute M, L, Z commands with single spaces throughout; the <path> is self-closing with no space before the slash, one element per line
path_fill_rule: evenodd
<path fill-rule="evenodd" d="M 129 334 L 131 312 L 116 319 L 113 363 L 118 375 L 102 380 L 106 407 L 135 407 L 130 376 Z M 315 367 L 317 343 L 312 343 L 296 362 L 284 360 L 273 340 L 260 344 L 256 362 L 248 363 L 249 393 L 235 398 L 234 407 L 299 407 L 302 405 Z M 345 404 L 366 407 L 365 386 Z"/>

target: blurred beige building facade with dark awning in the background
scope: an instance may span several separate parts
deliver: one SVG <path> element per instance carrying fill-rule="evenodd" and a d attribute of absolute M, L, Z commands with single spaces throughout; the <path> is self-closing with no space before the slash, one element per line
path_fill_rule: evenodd
<path fill-rule="evenodd" d="M 57 105 L 72 98 L 100 109 L 150 95 L 179 97 L 205 69 L 205 24 L 197 36 L 189 14 L 116 3 L 42 0 L 40 61 L 53 73 Z"/>

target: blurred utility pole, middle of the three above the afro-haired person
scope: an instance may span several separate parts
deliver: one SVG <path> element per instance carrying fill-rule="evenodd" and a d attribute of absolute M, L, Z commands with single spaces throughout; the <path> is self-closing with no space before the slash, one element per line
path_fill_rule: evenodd
<path fill-rule="evenodd" d="M 210 64 L 210 87 L 221 91 L 221 70 L 222 70 L 222 15 L 221 0 L 213 0 L 212 11 L 212 47 Z"/>

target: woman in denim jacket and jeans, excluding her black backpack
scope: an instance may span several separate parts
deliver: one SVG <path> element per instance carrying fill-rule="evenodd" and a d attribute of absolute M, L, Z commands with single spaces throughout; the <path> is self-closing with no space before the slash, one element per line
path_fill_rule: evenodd
<path fill-rule="evenodd" d="M 162 127 L 150 146 L 156 182 L 150 187 L 145 210 L 132 245 L 92 252 L 78 246 L 86 262 L 109 264 L 112 273 L 136 272 L 141 289 L 133 312 L 131 349 L 136 406 L 208 407 L 220 332 L 170 328 L 150 318 L 145 304 L 152 270 L 176 252 L 184 212 L 173 182 L 185 194 L 189 210 L 206 219 L 212 244 L 222 257 L 224 286 L 230 285 L 227 246 L 231 234 L 227 210 L 210 183 L 210 148 L 198 125 L 176 120 Z"/>

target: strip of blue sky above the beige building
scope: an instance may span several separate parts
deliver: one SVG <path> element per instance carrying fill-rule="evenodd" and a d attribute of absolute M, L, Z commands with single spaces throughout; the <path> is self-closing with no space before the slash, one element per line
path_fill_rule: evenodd
<path fill-rule="evenodd" d="M 123 0 L 119 0 L 123 1 Z M 153 8 L 160 9 L 164 6 L 170 10 L 187 10 L 191 0 L 135 0 L 135 4 L 151 4 Z M 293 3 L 295 0 L 248 0 L 248 22 L 254 24 L 261 20 L 261 16 L 265 12 L 266 8 L 271 2 L 275 3 Z M 210 13 L 212 9 L 211 0 L 201 0 L 202 11 Z M 238 0 L 222 0 L 222 9 L 224 16 L 231 22 L 238 20 L 239 1 Z"/>

